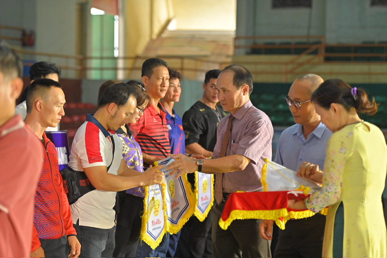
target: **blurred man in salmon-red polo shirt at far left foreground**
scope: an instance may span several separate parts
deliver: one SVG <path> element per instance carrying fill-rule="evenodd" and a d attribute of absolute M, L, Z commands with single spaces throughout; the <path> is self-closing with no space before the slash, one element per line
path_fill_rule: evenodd
<path fill-rule="evenodd" d="M 42 169 L 41 143 L 15 115 L 15 101 L 23 88 L 21 71 L 16 53 L 0 43 L 0 257 L 31 253 L 34 195 Z"/>

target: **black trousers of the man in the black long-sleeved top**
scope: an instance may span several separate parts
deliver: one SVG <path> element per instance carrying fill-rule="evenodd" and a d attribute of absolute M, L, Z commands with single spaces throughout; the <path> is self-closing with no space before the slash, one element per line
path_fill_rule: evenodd
<path fill-rule="evenodd" d="M 212 209 L 203 222 L 195 215 L 182 227 L 175 257 L 212 257 Z"/>

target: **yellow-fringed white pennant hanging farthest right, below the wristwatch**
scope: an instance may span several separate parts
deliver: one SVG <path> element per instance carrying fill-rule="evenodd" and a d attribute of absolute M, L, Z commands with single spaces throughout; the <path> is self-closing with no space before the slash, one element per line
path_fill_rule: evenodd
<path fill-rule="evenodd" d="M 203 221 L 214 204 L 214 174 L 195 172 L 195 216 Z"/>

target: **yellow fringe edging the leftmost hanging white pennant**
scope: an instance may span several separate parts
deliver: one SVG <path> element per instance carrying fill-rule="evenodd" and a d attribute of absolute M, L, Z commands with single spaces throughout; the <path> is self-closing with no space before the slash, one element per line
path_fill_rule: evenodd
<path fill-rule="evenodd" d="M 158 166 L 158 163 L 157 162 L 154 162 L 154 167 L 157 167 Z M 163 188 L 165 188 L 164 184 L 161 185 L 161 194 L 163 196 L 163 215 L 164 215 L 164 228 L 163 230 L 161 231 L 161 234 L 160 236 L 156 239 L 156 241 L 154 241 L 149 235 L 147 235 L 145 232 L 146 232 L 146 226 L 147 226 L 147 223 L 148 223 L 148 220 L 150 218 L 150 214 L 153 210 L 153 207 L 151 207 L 152 205 L 154 206 L 154 203 L 152 204 L 152 201 L 149 202 L 149 207 L 148 207 L 148 203 L 147 203 L 147 199 L 148 199 L 148 196 L 149 196 L 149 186 L 145 186 L 144 189 L 145 189 L 145 197 L 144 197 L 144 214 L 141 216 L 142 219 L 141 219 L 141 230 L 140 230 L 140 240 L 144 241 L 145 243 L 147 243 L 152 249 L 155 249 L 156 247 L 159 246 L 159 244 L 161 243 L 161 240 L 163 240 L 163 236 L 164 234 L 166 234 L 166 221 L 167 221 L 167 214 L 166 214 L 166 205 L 165 205 L 165 198 L 164 198 L 164 194 L 163 194 Z M 165 189 L 164 189 L 165 191 Z M 154 200 L 154 197 L 152 197 L 152 200 Z M 150 211 L 150 212 L 149 212 Z"/>

